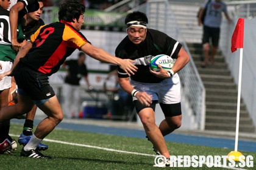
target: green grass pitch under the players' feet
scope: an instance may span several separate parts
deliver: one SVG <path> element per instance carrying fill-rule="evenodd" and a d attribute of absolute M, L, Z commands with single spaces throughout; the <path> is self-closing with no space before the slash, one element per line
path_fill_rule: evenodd
<path fill-rule="evenodd" d="M 10 134 L 18 140 L 22 126 L 12 124 Z M 143 138 L 54 129 L 43 141 L 49 149 L 42 151 L 51 160 L 20 157 L 21 146 L 13 154 L 0 155 L 0 169 L 156 169 L 152 144 Z M 231 149 L 212 148 L 167 142 L 172 155 L 227 155 Z M 255 152 L 243 151 L 243 155 Z M 254 167 L 256 167 L 254 163 Z M 172 168 L 227 169 L 227 168 Z M 235 168 L 233 168 L 235 169 Z M 238 169 L 238 168 L 236 168 Z M 245 168 L 256 169 L 256 168 Z"/>

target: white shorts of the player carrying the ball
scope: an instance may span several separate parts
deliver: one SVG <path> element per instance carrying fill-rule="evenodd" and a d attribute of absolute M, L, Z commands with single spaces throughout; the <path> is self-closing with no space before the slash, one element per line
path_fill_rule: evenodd
<path fill-rule="evenodd" d="M 130 84 L 134 89 L 152 95 L 152 100 L 157 100 L 158 103 L 180 103 L 180 78 L 177 73 L 172 78 L 166 78 L 160 83 L 140 83 L 130 80 Z M 137 100 L 137 98 L 133 97 L 133 100 Z"/>

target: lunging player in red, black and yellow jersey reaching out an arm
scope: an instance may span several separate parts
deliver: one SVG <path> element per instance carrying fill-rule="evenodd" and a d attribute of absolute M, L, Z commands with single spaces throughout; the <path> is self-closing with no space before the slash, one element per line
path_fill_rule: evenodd
<path fill-rule="evenodd" d="M 80 1 L 63 1 L 59 7 L 60 22 L 41 26 L 30 37 L 30 41 L 21 47 L 12 69 L 0 75 L 0 80 L 14 75 L 19 87 L 18 103 L 0 110 L 0 122 L 29 112 L 34 104 L 47 115 L 21 150 L 23 157 L 51 158 L 36 150 L 43 138 L 63 119 L 62 108 L 49 84 L 48 76 L 57 72 L 74 50 L 79 49 L 96 60 L 116 64 L 128 75 L 137 71 L 132 60 L 121 60 L 92 46 L 79 32 L 84 23 L 84 13 L 85 6 Z"/>

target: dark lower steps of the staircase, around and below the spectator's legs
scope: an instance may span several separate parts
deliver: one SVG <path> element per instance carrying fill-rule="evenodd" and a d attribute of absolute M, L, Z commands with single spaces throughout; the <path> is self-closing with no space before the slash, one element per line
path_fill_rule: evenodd
<path fill-rule="evenodd" d="M 196 64 L 206 91 L 205 130 L 233 131 L 236 128 L 236 109 L 238 91 L 233 77 L 219 51 L 215 56 L 215 64 L 201 67 L 202 45 L 188 43 L 191 56 Z M 241 99 L 240 132 L 255 132 L 254 124 L 249 117 L 246 106 Z"/>

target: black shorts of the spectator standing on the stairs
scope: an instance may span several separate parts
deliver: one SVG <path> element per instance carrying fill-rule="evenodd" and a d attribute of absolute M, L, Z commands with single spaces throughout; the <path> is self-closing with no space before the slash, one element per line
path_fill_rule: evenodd
<path fill-rule="evenodd" d="M 204 25 L 204 35 L 202 39 L 202 44 L 205 43 L 210 43 L 210 38 L 212 38 L 212 45 L 213 47 L 218 47 L 219 46 L 219 33 L 220 29 L 219 28 L 212 28 L 212 27 L 207 27 Z"/>

